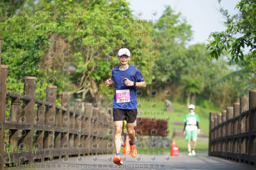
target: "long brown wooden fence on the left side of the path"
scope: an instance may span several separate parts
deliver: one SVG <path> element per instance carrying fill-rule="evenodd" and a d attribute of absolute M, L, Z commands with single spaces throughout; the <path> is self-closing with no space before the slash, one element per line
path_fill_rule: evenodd
<path fill-rule="evenodd" d="M 10 162 L 30 166 L 70 156 L 112 154 L 111 110 L 100 111 L 98 105 L 74 99 L 72 111 L 68 92 L 62 93 L 61 106 L 56 105 L 57 87 L 52 85 L 46 87 L 46 101 L 35 99 L 36 77 L 24 77 L 23 94 L 6 91 L 7 66 L 0 67 L 1 167 Z M 6 98 L 11 99 L 11 105 L 6 104 Z M 10 117 L 5 115 L 7 109 Z"/>

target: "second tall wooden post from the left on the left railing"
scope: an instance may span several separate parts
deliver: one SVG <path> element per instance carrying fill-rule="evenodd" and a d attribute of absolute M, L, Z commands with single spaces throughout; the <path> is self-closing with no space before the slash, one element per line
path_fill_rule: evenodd
<path fill-rule="evenodd" d="M 24 147 L 29 147 L 32 149 L 33 146 L 33 134 L 34 134 L 34 113 L 35 113 L 35 92 L 36 92 L 36 77 L 25 77 L 24 83 L 24 95 L 31 97 L 31 101 L 23 102 L 23 123 L 28 123 L 31 125 L 31 130 L 23 130 L 24 138 L 22 142 L 25 144 Z M 32 152 L 30 151 L 29 157 L 26 160 L 29 160 L 31 163 L 33 161 Z"/>

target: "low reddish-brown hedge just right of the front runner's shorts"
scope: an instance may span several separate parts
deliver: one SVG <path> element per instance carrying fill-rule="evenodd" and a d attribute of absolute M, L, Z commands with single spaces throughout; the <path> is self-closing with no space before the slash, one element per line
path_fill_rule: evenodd
<path fill-rule="evenodd" d="M 136 135 L 167 136 L 167 122 L 150 118 L 137 118 L 137 126 L 134 127 Z"/>

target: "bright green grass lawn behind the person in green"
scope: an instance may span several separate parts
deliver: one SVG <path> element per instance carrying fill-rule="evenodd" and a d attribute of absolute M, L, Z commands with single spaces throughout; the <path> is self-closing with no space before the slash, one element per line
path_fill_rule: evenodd
<path fill-rule="evenodd" d="M 172 130 L 174 128 L 184 128 L 183 119 L 184 116 L 189 112 L 188 108 L 184 104 L 180 104 L 178 102 L 172 101 L 172 107 L 174 108 L 174 112 L 166 112 L 164 111 L 164 100 L 156 99 L 156 98 L 142 98 L 137 97 L 138 102 L 138 115 L 137 117 L 147 117 L 147 118 L 157 118 L 157 119 L 165 119 L 167 115 L 171 117 L 171 120 L 168 122 L 168 128 Z M 201 134 L 209 136 L 209 113 L 210 112 L 218 112 L 217 110 L 206 109 L 195 105 L 195 113 L 198 114 L 200 122 L 199 127 L 201 129 Z M 180 123 L 180 125 L 173 125 L 173 123 Z M 172 136 L 171 133 L 169 136 Z M 188 152 L 187 141 L 183 138 L 175 138 L 176 144 L 179 146 L 180 152 Z M 171 142 L 171 141 L 170 141 Z M 192 145 L 191 145 L 192 146 Z M 155 149 L 138 149 L 138 154 L 165 154 L 167 152 L 170 153 L 170 148 L 155 148 Z M 198 141 L 196 144 L 196 153 L 207 154 L 208 152 L 208 142 Z"/>

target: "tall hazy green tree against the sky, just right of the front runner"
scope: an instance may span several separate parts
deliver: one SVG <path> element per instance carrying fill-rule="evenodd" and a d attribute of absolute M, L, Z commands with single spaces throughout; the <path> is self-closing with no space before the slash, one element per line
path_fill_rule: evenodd
<path fill-rule="evenodd" d="M 170 6 L 162 14 L 157 27 L 161 33 L 158 38 L 159 59 L 154 62 L 152 89 L 171 90 L 180 85 L 180 75 L 186 65 L 186 43 L 192 36 L 191 26 L 181 13 L 175 14 Z M 164 35 L 164 36 L 163 36 Z"/>

